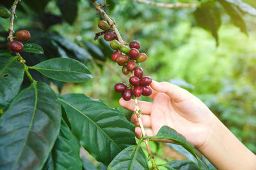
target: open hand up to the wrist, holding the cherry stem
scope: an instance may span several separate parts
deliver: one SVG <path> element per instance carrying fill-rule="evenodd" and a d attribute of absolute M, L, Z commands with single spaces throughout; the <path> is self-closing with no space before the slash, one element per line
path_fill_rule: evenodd
<path fill-rule="evenodd" d="M 143 126 L 148 136 L 154 136 L 163 125 L 172 127 L 199 148 L 207 139 L 207 134 L 216 122 L 214 114 L 200 99 L 176 85 L 168 82 L 152 81 L 152 103 L 139 101 L 143 113 Z M 120 99 L 120 105 L 127 110 L 134 110 L 134 100 Z M 131 122 L 139 126 L 138 118 L 132 115 Z M 135 135 L 141 138 L 140 127 L 136 127 Z M 164 141 L 170 142 L 170 141 Z"/>

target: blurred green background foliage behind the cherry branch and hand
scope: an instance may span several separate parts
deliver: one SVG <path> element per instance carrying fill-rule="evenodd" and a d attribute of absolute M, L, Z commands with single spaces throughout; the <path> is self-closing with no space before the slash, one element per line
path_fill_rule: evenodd
<path fill-rule="evenodd" d="M 256 8 L 256 1 L 243 1 Z M 219 15 L 213 20 L 208 18 L 210 20 L 205 23 L 214 22 L 216 25 L 210 25 L 207 31 L 196 26 L 200 25 L 198 18 L 195 18 L 196 8 L 168 9 L 129 0 L 111 0 L 107 1 L 110 6 L 105 10 L 115 20 L 125 41 L 135 39 L 141 42 L 140 51 L 148 55 L 148 60 L 141 64 L 146 75 L 189 90 L 256 153 L 255 16 L 239 9 L 243 18 L 239 18 L 240 15 L 230 18 L 232 14 L 221 8 L 221 1 L 156 2 L 211 4 L 211 10 L 217 9 Z M 104 1 L 99 3 L 104 4 Z M 4 0 L 1 4 L 10 7 L 12 2 Z M 200 14 L 200 17 L 204 16 Z M 29 66 L 52 57 L 71 57 L 86 63 L 93 75 L 93 79 L 86 83 L 63 84 L 35 71 L 32 74 L 37 80 L 51 83 L 61 94 L 84 93 L 103 99 L 108 106 L 120 107 L 120 94 L 116 94 L 113 87 L 119 81 L 127 82 L 128 77 L 120 76 L 122 67 L 111 62 L 112 51 L 108 42 L 102 38 L 93 40 L 95 32 L 100 32 L 97 22 L 102 16 L 97 14 L 89 1 L 24 0 L 18 7 L 17 18 L 15 30 L 28 29 L 31 32 L 29 41 L 40 44 L 45 51 L 45 55 L 22 54 Z M 217 23 L 220 21 L 221 25 Z M 0 18 L 0 49 L 7 45 L 8 24 L 9 20 Z M 208 26 L 203 25 L 204 28 Z M 218 36 L 214 30 L 218 30 Z M 26 81 L 23 85 L 27 86 Z M 141 99 L 150 101 L 147 97 Z M 122 110 L 129 119 L 131 113 Z M 166 156 L 163 148 L 158 150 L 162 144 L 154 145 L 155 152 Z"/>

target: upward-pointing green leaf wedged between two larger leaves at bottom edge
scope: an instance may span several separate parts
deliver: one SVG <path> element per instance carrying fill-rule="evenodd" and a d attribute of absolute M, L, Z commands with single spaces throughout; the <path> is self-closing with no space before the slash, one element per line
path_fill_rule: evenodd
<path fill-rule="evenodd" d="M 44 169 L 82 169 L 79 145 L 64 120 L 61 121 L 60 134 L 47 160 Z"/>

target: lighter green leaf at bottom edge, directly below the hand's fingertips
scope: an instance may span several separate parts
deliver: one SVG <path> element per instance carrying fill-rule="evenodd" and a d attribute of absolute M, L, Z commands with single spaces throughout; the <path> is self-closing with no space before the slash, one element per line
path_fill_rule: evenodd
<path fill-rule="evenodd" d="M 138 143 L 138 145 L 129 146 L 122 150 L 122 152 L 118 153 L 115 159 L 113 159 L 109 164 L 108 170 L 149 169 L 147 157 L 143 152 L 140 143 Z"/>

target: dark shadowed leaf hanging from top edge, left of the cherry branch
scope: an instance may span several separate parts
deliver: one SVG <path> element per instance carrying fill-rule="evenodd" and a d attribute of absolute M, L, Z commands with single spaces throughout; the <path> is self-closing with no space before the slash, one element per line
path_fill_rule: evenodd
<path fill-rule="evenodd" d="M 62 17 L 68 22 L 73 24 L 77 16 L 77 0 L 57 0 L 57 5 L 60 8 Z"/>

